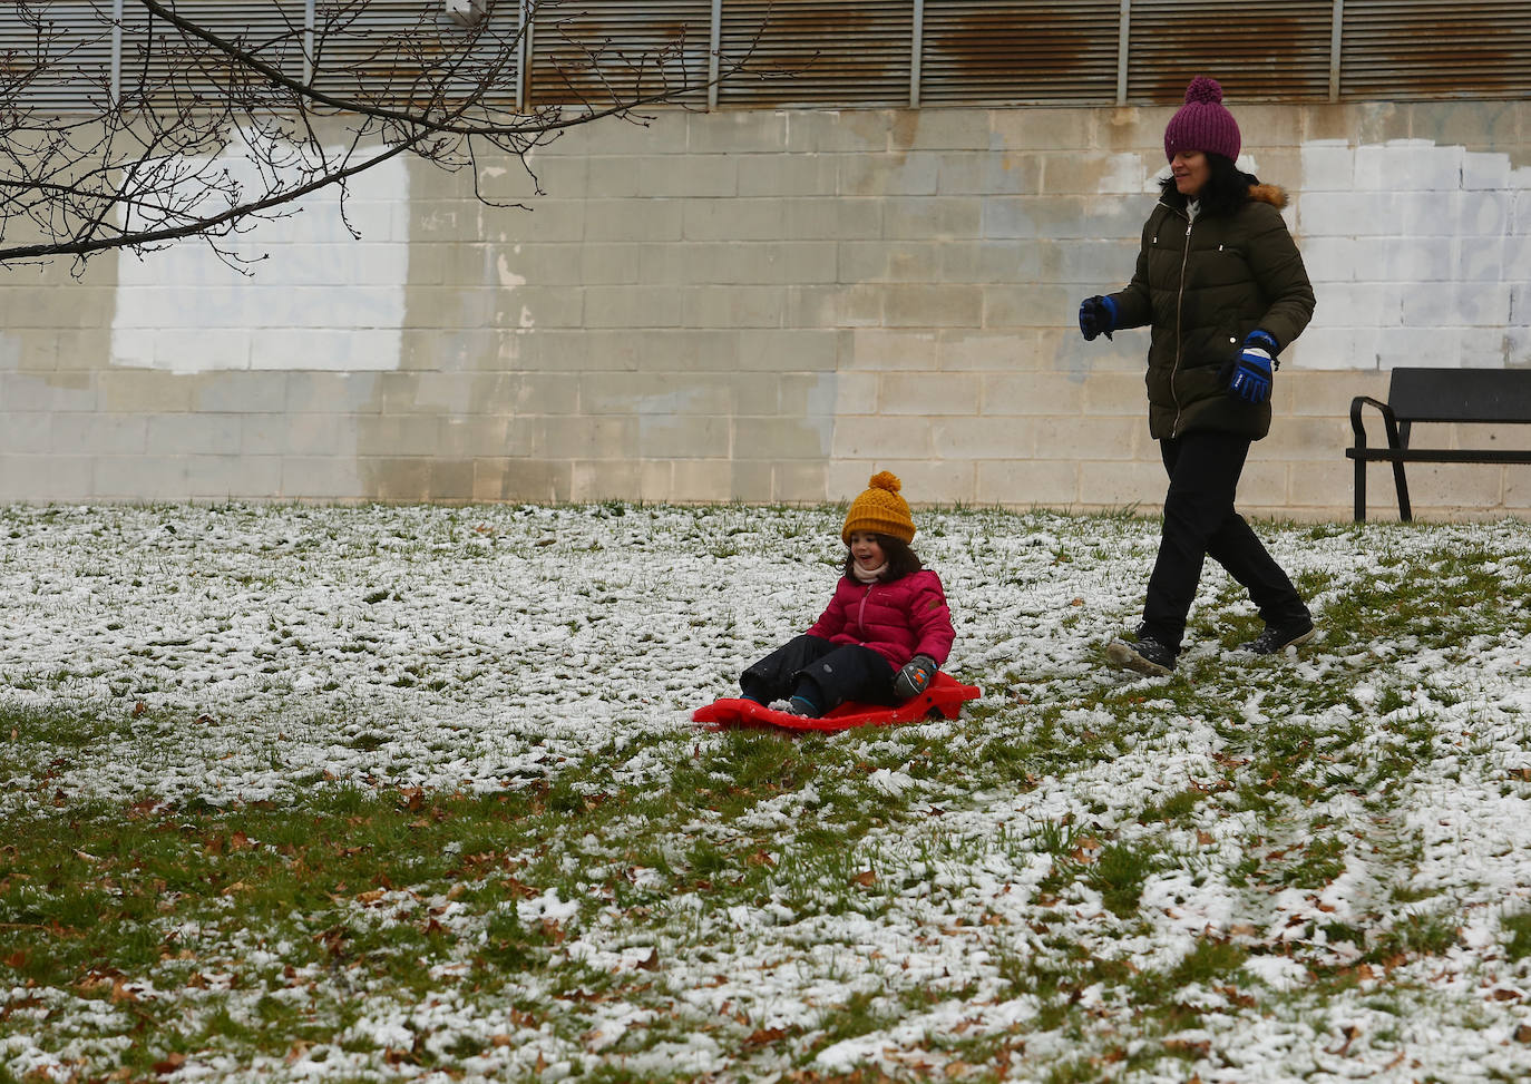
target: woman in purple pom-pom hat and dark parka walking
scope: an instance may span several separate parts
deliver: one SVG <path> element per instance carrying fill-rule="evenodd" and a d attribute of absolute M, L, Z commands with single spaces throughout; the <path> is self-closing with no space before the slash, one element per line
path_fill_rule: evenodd
<path fill-rule="evenodd" d="M 1271 429 L 1277 355 L 1314 315 L 1303 257 L 1281 220 L 1286 193 L 1242 173 L 1239 126 L 1208 78 L 1191 80 L 1164 132 L 1171 175 L 1144 225 L 1131 283 L 1079 306 L 1085 340 L 1150 326 L 1148 429 L 1170 473 L 1164 533 L 1134 637 L 1107 658 L 1168 674 L 1206 556 L 1260 608 L 1268 655 L 1314 637 L 1291 579 L 1234 511 L 1251 441 Z"/>

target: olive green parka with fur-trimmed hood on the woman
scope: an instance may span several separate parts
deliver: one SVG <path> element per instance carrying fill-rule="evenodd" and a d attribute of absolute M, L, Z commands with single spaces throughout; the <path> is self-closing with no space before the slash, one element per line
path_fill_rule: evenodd
<path fill-rule="evenodd" d="M 1170 188 L 1144 225 L 1138 269 L 1112 294 L 1118 328 L 1150 325 L 1148 432 L 1197 429 L 1260 439 L 1271 404 L 1228 395 L 1245 337 L 1266 331 L 1281 349 L 1314 315 L 1314 288 L 1281 220 L 1286 191 L 1254 184 L 1229 214 L 1197 214 Z"/>

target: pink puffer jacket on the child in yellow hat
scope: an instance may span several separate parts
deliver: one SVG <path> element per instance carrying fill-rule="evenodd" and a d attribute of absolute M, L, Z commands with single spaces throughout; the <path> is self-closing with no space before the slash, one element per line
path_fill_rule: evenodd
<path fill-rule="evenodd" d="M 942 580 L 928 568 L 893 583 L 857 583 L 842 576 L 808 635 L 871 648 L 894 669 L 916 655 L 929 655 L 942 666 L 957 638 Z"/>

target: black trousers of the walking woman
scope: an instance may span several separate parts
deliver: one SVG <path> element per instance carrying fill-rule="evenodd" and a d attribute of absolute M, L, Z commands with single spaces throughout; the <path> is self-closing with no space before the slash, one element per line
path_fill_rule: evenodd
<path fill-rule="evenodd" d="M 1164 498 L 1164 534 L 1148 577 L 1142 631 L 1173 651 L 1180 649 L 1205 557 L 1226 568 L 1249 593 L 1266 625 L 1309 620 L 1292 580 L 1234 511 L 1249 439 L 1196 432 L 1159 441 L 1159 453 L 1170 473 L 1170 491 Z"/>

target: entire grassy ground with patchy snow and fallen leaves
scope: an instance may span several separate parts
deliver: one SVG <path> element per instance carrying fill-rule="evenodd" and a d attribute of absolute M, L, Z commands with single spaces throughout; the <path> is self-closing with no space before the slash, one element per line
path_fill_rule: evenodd
<path fill-rule="evenodd" d="M 1531 1075 L 1531 527 L 926 511 L 955 721 L 698 730 L 834 508 L 0 510 L 0 1082 Z"/>

